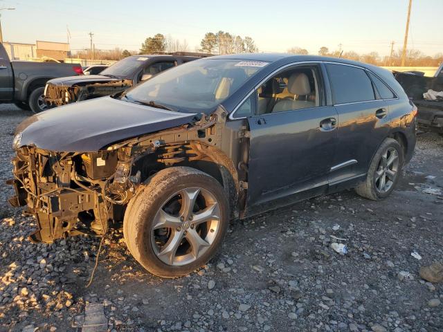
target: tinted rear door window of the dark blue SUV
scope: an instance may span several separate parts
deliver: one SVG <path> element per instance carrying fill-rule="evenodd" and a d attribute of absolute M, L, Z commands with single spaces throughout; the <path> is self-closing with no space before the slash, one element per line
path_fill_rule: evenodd
<path fill-rule="evenodd" d="M 326 64 L 334 104 L 375 100 L 372 83 L 365 71 L 341 64 Z"/>

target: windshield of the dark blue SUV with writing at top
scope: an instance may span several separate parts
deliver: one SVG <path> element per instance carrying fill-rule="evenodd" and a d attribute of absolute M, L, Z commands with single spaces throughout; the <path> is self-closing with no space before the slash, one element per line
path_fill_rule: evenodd
<path fill-rule="evenodd" d="M 164 71 L 124 96 L 129 102 L 159 104 L 174 111 L 215 109 L 268 62 L 202 59 Z"/>

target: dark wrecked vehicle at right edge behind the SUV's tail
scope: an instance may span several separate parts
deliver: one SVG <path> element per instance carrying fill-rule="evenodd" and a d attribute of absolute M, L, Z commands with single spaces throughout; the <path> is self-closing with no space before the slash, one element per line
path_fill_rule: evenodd
<path fill-rule="evenodd" d="M 437 68 L 433 77 L 426 77 L 419 72 L 395 72 L 394 75 L 418 108 L 419 129 L 443 135 L 443 98 L 426 100 L 423 95 L 430 89 L 438 92 L 443 91 L 443 64 Z"/>

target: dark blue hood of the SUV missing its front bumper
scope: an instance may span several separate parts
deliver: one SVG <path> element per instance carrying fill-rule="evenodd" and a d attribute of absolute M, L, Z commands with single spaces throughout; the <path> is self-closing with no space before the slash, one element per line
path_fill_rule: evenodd
<path fill-rule="evenodd" d="M 111 97 L 50 109 L 21 122 L 15 147 L 91 152 L 121 140 L 192 122 L 196 113 L 156 109 Z"/>

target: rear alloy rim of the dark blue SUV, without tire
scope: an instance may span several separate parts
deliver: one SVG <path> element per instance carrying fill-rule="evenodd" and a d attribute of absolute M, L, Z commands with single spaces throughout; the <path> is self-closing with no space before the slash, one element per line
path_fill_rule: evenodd
<path fill-rule="evenodd" d="M 389 147 L 381 155 L 379 165 L 375 171 L 375 187 L 377 192 L 384 194 L 390 190 L 399 172 L 399 153 L 397 149 Z"/>

